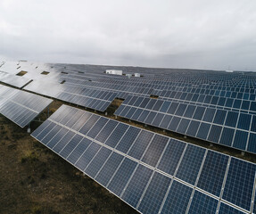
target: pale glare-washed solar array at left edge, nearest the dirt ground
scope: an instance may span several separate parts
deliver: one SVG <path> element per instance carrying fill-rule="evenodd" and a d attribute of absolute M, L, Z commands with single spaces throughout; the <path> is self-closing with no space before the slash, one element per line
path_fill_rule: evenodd
<path fill-rule="evenodd" d="M 0 86 L 0 113 L 21 128 L 37 117 L 53 100 L 8 86 Z"/>

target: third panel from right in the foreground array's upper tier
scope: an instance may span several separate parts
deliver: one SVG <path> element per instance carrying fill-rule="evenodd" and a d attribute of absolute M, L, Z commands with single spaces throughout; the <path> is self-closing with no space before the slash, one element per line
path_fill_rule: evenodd
<path fill-rule="evenodd" d="M 184 157 L 178 167 L 176 177 L 194 185 L 197 174 L 202 164 L 205 149 L 187 145 Z"/>

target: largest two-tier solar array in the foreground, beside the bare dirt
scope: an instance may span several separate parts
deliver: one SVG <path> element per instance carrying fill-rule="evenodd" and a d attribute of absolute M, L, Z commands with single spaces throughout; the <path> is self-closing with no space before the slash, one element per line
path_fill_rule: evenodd
<path fill-rule="evenodd" d="M 31 136 L 142 213 L 250 213 L 256 165 L 62 105 Z"/>

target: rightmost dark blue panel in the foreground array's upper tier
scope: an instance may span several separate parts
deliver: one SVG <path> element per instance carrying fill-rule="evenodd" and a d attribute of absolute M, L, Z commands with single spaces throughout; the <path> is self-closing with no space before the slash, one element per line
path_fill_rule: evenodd
<path fill-rule="evenodd" d="M 250 210 L 255 171 L 254 164 L 232 158 L 222 198 Z"/>

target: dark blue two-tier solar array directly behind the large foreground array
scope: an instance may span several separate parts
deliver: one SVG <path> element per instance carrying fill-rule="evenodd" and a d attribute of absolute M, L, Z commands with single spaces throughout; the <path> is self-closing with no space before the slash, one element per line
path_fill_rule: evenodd
<path fill-rule="evenodd" d="M 114 114 L 256 153 L 256 115 L 141 96 L 128 96 Z"/>

